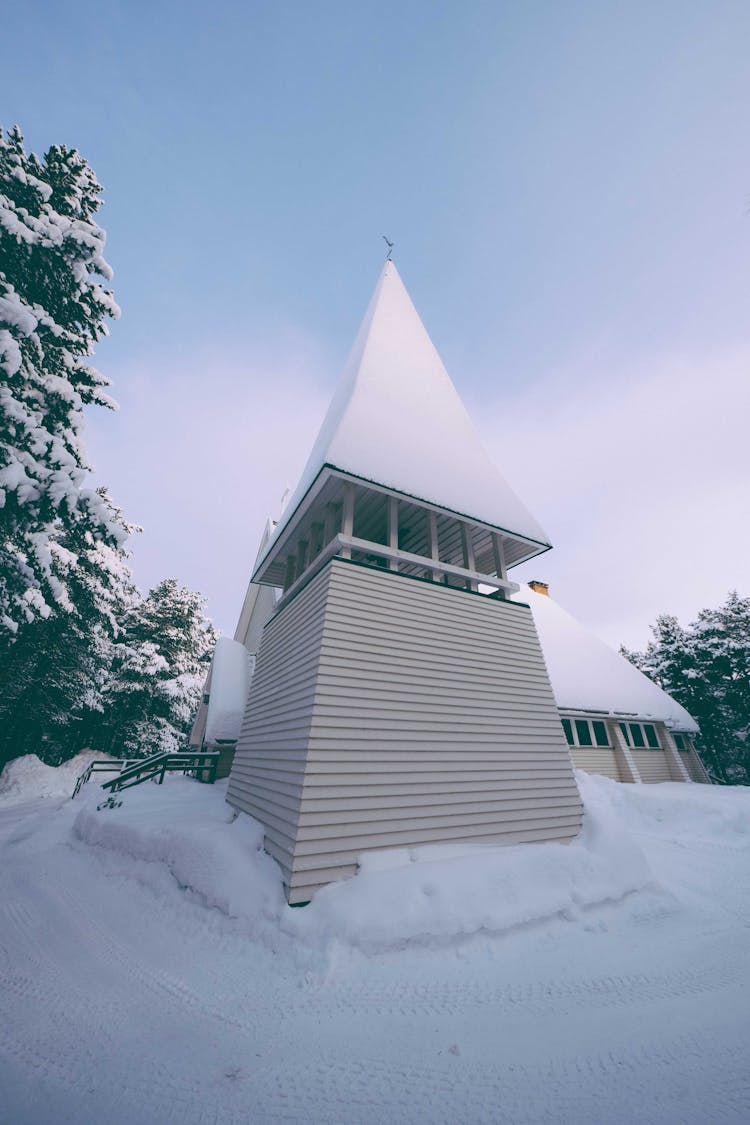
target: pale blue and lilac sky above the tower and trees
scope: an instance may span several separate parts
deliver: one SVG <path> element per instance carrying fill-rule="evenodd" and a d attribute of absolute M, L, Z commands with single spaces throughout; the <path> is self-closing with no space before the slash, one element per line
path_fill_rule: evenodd
<path fill-rule="evenodd" d="M 2 124 L 106 187 L 121 411 L 88 442 L 143 584 L 233 630 L 385 232 L 563 605 L 634 645 L 750 592 L 747 3 L 30 0 L 2 26 Z"/>

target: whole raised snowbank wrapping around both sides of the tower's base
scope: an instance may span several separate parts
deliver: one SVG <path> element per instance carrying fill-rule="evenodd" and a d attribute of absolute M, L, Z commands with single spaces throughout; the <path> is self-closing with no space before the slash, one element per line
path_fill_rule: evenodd
<path fill-rule="evenodd" d="M 89 801 L 74 832 L 87 844 L 164 865 L 182 890 L 256 936 L 268 937 L 271 924 L 277 935 L 311 950 L 336 944 L 372 954 L 571 918 L 652 886 L 627 813 L 606 790 L 614 782 L 581 774 L 579 784 L 586 814 L 572 844 L 370 853 L 353 879 L 324 888 L 305 909 L 287 907 L 280 870 L 262 850 L 263 829 L 245 814 L 233 818 L 226 783 L 172 778 L 126 792 L 120 808 L 101 811 Z"/>

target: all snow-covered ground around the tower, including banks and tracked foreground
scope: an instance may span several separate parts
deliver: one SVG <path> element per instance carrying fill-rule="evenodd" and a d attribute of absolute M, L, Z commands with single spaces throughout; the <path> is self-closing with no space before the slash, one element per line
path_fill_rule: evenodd
<path fill-rule="evenodd" d="M 291 910 L 222 785 L 9 771 L 3 1123 L 750 1120 L 748 790 L 579 774 L 569 847 L 371 855 Z"/>

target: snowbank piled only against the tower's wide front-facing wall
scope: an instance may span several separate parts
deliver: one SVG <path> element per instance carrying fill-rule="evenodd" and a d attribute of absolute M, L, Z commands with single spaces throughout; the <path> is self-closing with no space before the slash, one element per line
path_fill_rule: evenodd
<path fill-rule="evenodd" d="M 337 939 L 379 953 L 570 918 L 652 885 L 640 846 L 587 782 L 579 777 L 586 811 L 571 844 L 370 853 L 354 879 L 318 891 L 287 928 L 307 940 Z M 594 799 L 587 801 L 587 793 Z"/>

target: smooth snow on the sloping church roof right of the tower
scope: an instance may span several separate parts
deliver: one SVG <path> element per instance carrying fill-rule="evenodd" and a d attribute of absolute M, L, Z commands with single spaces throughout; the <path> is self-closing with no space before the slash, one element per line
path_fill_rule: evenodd
<path fill-rule="evenodd" d="M 676 730 L 698 729 L 671 695 L 546 594 L 524 585 L 514 600 L 532 609 L 552 692 L 561 710 L 634 714 L 661 720 Z"/>

